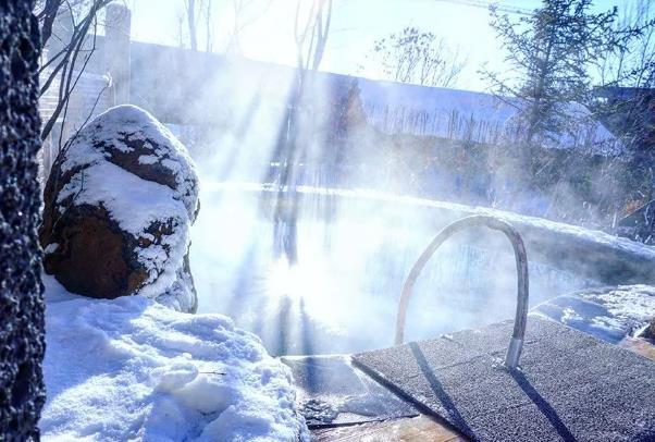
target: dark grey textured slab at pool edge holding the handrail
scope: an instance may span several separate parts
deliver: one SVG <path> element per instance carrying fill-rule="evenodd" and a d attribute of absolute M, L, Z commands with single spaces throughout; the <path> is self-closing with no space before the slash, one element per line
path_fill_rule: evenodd
<path fill-rule="evenodd" d="M 471 440 L 655 440 L 655 363 L 531 317 L 520 370 L 509 371 L 511 329 L 506 321 L 353 361 Z"/>

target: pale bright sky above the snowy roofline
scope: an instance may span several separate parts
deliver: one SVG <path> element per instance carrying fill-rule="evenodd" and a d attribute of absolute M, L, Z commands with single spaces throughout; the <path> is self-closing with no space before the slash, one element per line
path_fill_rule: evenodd
<path fill-rule="evenodd" d="M 211 0 L 211 41 L 215 52 L 226 47 L 233 27 L 232 0 Z M 243 14 L 252 20 L 242 33 L 240 52 L 248 58 L 294 64 L 293 17 L 296 0 L 251 0 Z M 309 1 L 309 0 L 308 0 Z M 485 2 L 484 0 L 482 0 Z M 629 0 L 596 0 L 596 10 L 607 10 Z M 178 45 L 183 0 L 128 0 L 133 10 L 133 38 L 164 45 Z M 261 15 L 262 4 L 269 3 Z M 534 9 L 540 0 L 496 1 L 505 7 Z M 483 63 L 503 66 L 505 57 L 494 30 L 489 26 L 489 11 L 443 0 L 334 0 L 332 32 L 321 70 L 344 74 L 381 77 L 366 56 L 373 41 L 405 26 L 412 25 L 443 37 L 468 60 L 456 87 L 484 90 L 478 71 Z M 182 33 L 186 30 L 182 27 Z M 202 30 L 205 33 L 205 30 Z M 183 38 L 185 38 L 183 36 Z M 203 45 L 206 38 L 201 39 Z M 364 66 L 363 73 L 360 66 Z"/>

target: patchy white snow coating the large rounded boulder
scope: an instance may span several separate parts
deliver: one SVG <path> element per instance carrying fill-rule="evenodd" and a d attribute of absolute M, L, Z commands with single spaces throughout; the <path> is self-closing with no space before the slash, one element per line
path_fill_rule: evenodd
<path fill-rule="evenodd" d="M 138 164 L 157 163 L 159 169 L 135 171 L 119 165 L 129 162 L 125 159 L 129 155 L 138 155 Z M 182 304 L 176 308 L 189 310 L 191 300 L 170 299 L 195 297 L 187 293 L 191 290 L 185 286 L 187 275 L 180 272 L 198 209 L 198 177 L 186 148 L 148 112 L 120 106 L 100 114 L 69 142 L 60 168 L 62 176 L 73 174 L 57 196 L 60 212 L 69 201 L 103 207 L 121 230 L 144 244 L 136 259 L 148 278 L 139 294 L 160 296 L 169 306 Z M 153 171 L 160 180 L 173 181 L 162 184 L 139 175 Z M 170 228 L 160 241 L 150 233 L 157 225 Z M 51 246 L 46 250 L 53 251 Z"/>

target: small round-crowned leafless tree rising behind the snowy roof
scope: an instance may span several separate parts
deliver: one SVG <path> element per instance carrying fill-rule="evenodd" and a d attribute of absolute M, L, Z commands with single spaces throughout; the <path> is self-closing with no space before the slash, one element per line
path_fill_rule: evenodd
<path fill-rule="evenodd" d="M 424 86 L 452 86 L 466 65 L 443 38 L 416 27 L 376 40 L 372 58 L 388 78 Z"/>

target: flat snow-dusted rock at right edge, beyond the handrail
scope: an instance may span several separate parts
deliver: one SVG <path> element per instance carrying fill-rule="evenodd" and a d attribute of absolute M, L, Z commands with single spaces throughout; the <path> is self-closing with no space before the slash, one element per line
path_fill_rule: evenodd
<path fill-rule="evenodd" d="M 618 343 L 655 317 L 655 287 L 623 285 L 561 295 L 534 307 L 531 315 Z"/>

